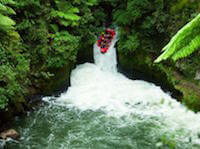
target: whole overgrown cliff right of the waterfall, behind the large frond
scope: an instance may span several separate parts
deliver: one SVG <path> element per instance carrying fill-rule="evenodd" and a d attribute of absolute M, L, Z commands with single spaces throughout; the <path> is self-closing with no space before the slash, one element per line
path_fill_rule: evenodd
<path fill-rule="evenodd" d="M 177 62 L 154 64 L 153 61 L 170 38 L 199 13 L 199 6 L 197 1 L 159 0 L 152 3 L 141 0 L 121 4 L 114 11 L 114 21 L 119 28 L 117 49 L 122 71 L 130 75 L 134 72 L 146 74 L 147 81 L 167 88 L 195 111 L 200 110 L 199 52 Z"/>

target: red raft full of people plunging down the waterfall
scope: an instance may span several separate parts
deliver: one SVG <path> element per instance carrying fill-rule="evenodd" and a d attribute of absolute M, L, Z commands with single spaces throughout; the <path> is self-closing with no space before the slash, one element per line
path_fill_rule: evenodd
<path fill-rule="evenodd" d="M 115 37 L 115 30 L 106 29 L 105 34 L 102 34 L 97 41 L 97 46 L 100 47 L 101 53 L 106 53 Z"/>

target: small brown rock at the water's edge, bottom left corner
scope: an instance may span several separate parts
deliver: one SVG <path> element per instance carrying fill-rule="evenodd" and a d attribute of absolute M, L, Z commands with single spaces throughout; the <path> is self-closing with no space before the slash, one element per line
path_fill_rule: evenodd
<path fill-rule="evenodd" d="M 0 138 L 6 140 L 7 138 L 18 139 L 19 133 L 14 129 L 8 129 L 0 133 Z"/>

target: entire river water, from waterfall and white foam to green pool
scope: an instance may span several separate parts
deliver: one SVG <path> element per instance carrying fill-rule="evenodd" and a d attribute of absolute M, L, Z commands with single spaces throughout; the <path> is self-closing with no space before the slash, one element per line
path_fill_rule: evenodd
<path fill-rule="evenodd" d="M 94 46 L 95 64 L 71 74 L 71 86 L 14 126 L 30 149 L 199 149 L 200 114 L 159 86 L 117 72 L 114 43 L 106 54 Z"/>

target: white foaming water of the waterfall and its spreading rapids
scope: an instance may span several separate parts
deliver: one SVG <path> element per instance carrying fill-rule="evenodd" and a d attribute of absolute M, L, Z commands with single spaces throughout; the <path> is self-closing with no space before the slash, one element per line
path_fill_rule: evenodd
<path fill-rule="evenodd" d="M 187 110 L 159 86 L 118 73 L 114 43 L 106 54 L 99 51 L 95 45 L 95 64 L 85 63 L 72 71 L 71 86 L 53 104 L 81 111 L 101 110 L 108 117 L 124 117 L 126 125 L 136 123 L 134 116 L 146 121 L 156 118 L 162 133 L 173 133 L 176 140 L 184 143 L 200 144 L 199 113 Z M 50 99 L 44 98 L 52 102 Z"/>

